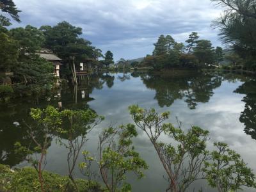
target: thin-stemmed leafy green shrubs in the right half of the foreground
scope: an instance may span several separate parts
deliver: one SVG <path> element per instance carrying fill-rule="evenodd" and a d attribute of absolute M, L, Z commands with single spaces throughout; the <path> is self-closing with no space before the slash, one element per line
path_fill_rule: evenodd
<path fill-rule="evenodd" d="M 243 159 L 225 143 L 214 143 L 218 150 L 206 150 L 209 131 L 200 127 L 191 127 L 187 133 L 163 123 L 169 112 L 159 114 L 155 109 L 143 109 L 129 106 L 134 123 L 144 131 L 163 168 L 168 175 L 169 187 L 166 191 L 186 191 L 189 185 L 198 179 L 207 179 L 210 186 L 218 191 L 236 191 L 241 186 L 256 188 L 255 175 L 246 167 Z M 172 143 L 158 141 L 161 134 L 172 138 Z M 174 142 L 173 142 L 174 141 Z"/>

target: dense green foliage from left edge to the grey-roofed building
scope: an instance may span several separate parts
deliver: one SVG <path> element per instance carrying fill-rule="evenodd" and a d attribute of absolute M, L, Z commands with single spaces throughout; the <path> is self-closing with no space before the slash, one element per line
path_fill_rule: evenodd
<path fill-rule="evenodd" d="M 44 34 L 37 28 L 15 28 L 0 33 L 0 70 L 11 71 L 15 95 L 38 95 L 51 90 L 54 67 L 35 54 L 44 44 Z M 2 55 L 3 54 L 3 55 Z"/>

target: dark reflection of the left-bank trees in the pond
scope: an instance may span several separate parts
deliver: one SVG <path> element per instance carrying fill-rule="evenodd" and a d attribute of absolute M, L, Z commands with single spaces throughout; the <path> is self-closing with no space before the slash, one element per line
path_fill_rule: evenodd
<path fill-rule="evenodd" d="M 54 96 L 49 97 L 49 102 L 47 102 L 44 96 L 42 98 L 26 97 L 24 99 L 15 99 L 9 103 L 1 104 L 0 110 L 4 111 L 4 113 L 0 113 L 0 164 L 15 166 L 23 161 L 24 156 L 15 154 L 14 144 L 16 142 L 31 150 L 35 147 L 26 132 L 25 125 L 22 124 L 23 120 L 28 124 L 31 123 L 31 118 L 29 117 L 31 108 L 46 108 L 49 104 L 57 108 L 58 102 L 61 101 L 63 108 L 66 109 L 88 109 L 90 108 L 88 101 L 92 100 L 89 97 L 90 93 L 94 89 L 102 89 L 104 83 L 107 82 L 108 86 L 110 84 L 113 86 L 113 83 L 111 83 L 113 81 L 112 79 L 113 77 L 111 76 L 106 79 L 106 77 L 102 77 L 102 74 L 92 74 L 88 78 L 84 78 L 83 82 L 79 82 L 77 88 L 74 88 L 74 86 L 63 88 L 60 98 Z M 84 98 L 82 98 L 81 94 L 83 90 L 85 91 Z M 18 122 L 20 125 L 15 126 L 13 122 Z M 40 130 L 36 136 L 38 136 L 38 141 L 44 139 L 40 134 Z"/>

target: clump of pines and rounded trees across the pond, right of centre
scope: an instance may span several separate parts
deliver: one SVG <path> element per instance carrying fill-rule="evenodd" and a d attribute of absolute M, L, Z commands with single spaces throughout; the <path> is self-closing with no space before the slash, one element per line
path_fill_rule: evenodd
<path fill-rule="evenodd" d="M 176 42 L 171 35 L 160 35 L 152 55 L 147 55 L 141 65 L 163 68 L 202 68 L 223 61 L 223 49 L 212 47 L 209 40 L 199 39 L 198 33 L 192 32 L 183 43 Z"/>

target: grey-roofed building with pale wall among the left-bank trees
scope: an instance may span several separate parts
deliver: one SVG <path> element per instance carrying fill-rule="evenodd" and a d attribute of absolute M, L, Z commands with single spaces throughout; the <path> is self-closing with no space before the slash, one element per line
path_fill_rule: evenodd
<path fill-rule="evenodd" d="M 57 77 L 60 77 L 60 65 L 61 59 L 58 58 L 50 49 L 41 49 L 37 51 L 36 54 L 39 54 L 41 58 L 51 62 L 54 65 L 54 74 Z"/>

